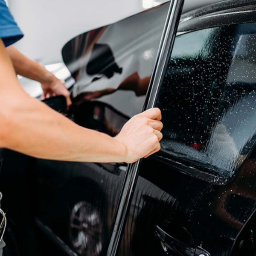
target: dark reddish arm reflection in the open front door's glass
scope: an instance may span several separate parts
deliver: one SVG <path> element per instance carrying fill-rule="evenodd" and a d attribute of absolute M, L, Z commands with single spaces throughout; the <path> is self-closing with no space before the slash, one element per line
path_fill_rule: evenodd
<path fill-rule="evenodd" d="M 119 85 L 117 89 L 114 88 L 106 88 L 103 90 L 93 91 L 93 92 L 84 92 L 81 93 L 74 99 L 75 104 L 80 105 L 84 101 L 88 101 L 91 99 L 98 99 L 102 96 L 111 94 L 116 92 L 117 90 L 132 90 L 135 92 L 136 96 L 143 96 L 147 93 L 148 84 L 150 81 L 150 76 L 147 76 L 143 79 L 140 78 L 137 72 L 133 73 L 131 76 L 126 78 Z"/>

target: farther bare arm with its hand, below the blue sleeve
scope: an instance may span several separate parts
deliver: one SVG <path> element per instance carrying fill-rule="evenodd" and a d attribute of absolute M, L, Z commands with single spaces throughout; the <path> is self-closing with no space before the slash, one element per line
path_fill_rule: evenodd
<path fill-rule="evenodd" d="M 50 73 L 45 67 L 27 58 L 15 47 L 9 46 L 6 48 L 9 57 L 12 60 L 15 72 L 26 78 L 38 81 L 42 85 L 43 99 L 47 96 L 63 95 L 66 97 L 67 106 L 71 105 L 70 93 L 65 85 Z"/>

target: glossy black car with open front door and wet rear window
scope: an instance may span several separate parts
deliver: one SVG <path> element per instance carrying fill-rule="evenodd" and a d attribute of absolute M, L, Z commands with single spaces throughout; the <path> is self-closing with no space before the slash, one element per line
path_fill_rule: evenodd
<path fill-rule="evenodd" d="M 61 97 L 46 104 L 116 135 L 143 108 L 167 10 L 69 41 L 74 104 L 69 112 Z M 142 161 L 118 254 L 256 255 L 256 1 L 183 14 L 163 76 L 162 148 Z M 106 254 L 125 163 L 1 154 L 6 255 Z"/>

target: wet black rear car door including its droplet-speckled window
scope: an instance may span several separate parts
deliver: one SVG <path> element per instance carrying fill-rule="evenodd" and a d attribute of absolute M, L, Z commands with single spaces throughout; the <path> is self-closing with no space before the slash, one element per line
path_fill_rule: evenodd
<path fill-rule="evenodd" d="M 229 18 L 176 38 L 119 255 L 255 254 L 256 23 Z"/>

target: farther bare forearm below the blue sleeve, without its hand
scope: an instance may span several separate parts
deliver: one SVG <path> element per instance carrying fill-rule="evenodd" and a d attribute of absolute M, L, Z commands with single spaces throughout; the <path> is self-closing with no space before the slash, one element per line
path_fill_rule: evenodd
<path fill-rule="evenodd" d="M 46 83 L 55 78 L 44 66 L 27 58 L 15 49 L 15 47 L 9 46 L 6 50 L 12 60 L 17 75 L 24 76 L 40 83 Z"/>

